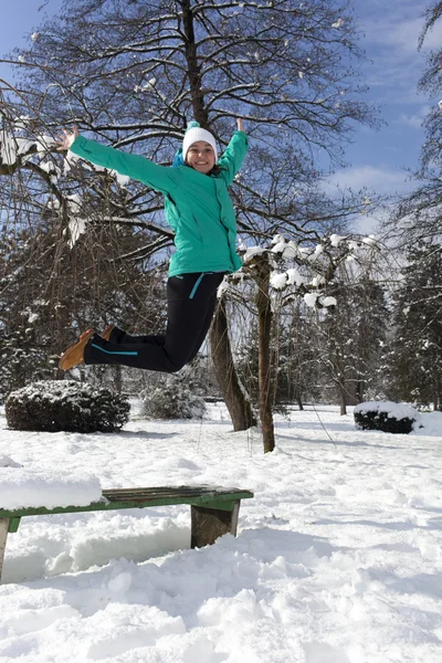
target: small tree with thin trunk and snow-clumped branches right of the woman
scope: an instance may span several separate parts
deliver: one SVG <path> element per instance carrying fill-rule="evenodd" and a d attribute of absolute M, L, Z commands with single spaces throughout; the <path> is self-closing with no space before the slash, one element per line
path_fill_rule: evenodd
<path fill-rule="evenodd" d="M 272 326 L 274 320 L 275 294 L 278 306 L 290 305 L 293 299 L 304 297 L 307 306 L 332 309 L 339 306 L 334 296 L 339 273 L 348 261 L 360 265 L 361 272 L 370 270 L 378 246 L 371 239 L 347 238 L 334 233 L 318 242 L 302 245 L 276 235 L 273 246 L 250 248 L 241 273 L 229 277 L 232 290 L 242 287 L 244 278 L 255 286 L 255 315 L 259 320 L 259 404 L 263 433 L 264 453 L 275 446 L 272 412 Z M 336 375 L 334 375 L 336 377 Z M 273 383 L 276 377 L 273 375 Z M 338 382 L 340 383 L 340 382 Z"/>

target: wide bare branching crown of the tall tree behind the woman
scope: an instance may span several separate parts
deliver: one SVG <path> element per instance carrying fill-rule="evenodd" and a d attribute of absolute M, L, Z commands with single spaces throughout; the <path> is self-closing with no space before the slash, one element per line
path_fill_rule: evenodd
<path fill-rule="evenodd" d="M 318 156 L 341 164 L 351 123 L 373 124 L 360 101 L 356 39 L 347 3 L 332 0 L 76 0 L 20 53 L 22 88 L 32 90 L 32 101 L 19 88 L 11 122 L 17 127 L 21 118 L 27 138 L 35 127 L 54 133 L 75 123 L 115 147 L 170 164 L 188 119 L 223 146 L 242 116 L 252 145 L 232 187 L 242 236 L 259 243 L 277 232 L 311 238 L 364 208 L 359 200 L 339 209 L 324 196 L 318 207 L 314 186 Z M 84 167 L 70 171 L 70 187 L 71 177 L 87 182 L 82 204 L 86 198 L 98 206 L 98 222 L 143 229 L 134 259 L 167 257 L 172 238 L 156 193 L 129 183 L 122 196 Z M 60 188 L 63 200 L 72 194 L 64 181 Z"/>

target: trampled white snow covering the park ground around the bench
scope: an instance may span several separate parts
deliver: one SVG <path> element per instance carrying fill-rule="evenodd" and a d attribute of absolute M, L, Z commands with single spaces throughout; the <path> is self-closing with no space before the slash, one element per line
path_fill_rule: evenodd
<path fill-rule="evenodd" d="M 187 506 L 24 518 L 8 538 L 0 663 L 440 663 L 442 414 L 423 421 L 360 432 L 317 407 L 280 419 L 264 455 L 220 406 L 119 434 L 0 418 L 0 453 L 25 469 L 255 493 L 236 538 L 197 550 Z"/>

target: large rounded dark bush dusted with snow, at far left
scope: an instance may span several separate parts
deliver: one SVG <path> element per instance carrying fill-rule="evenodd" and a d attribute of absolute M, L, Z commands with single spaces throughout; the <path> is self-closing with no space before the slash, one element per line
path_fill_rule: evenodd
<path fill-rule="evenodd" d="M 108 389 L 48 380 L 12 391 L 6 401 L 8 425 L 20 431 L 118 431 L 129 418 L 126 398 Z"/>

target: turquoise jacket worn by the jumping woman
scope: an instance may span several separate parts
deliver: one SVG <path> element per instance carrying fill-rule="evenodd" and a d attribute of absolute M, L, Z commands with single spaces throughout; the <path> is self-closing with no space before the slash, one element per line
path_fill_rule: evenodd
<path fill-rule="evenodd" d="M 116 170 L 165 194 L 165 212 L 175 231 L 177 251 L 169 276 L 189 272 L 235 272 L 236 219 L 228 187 L 248 151 L 248 136 L 235 131 L 218 160 L 219 175 L 203 175 L 189 166 L 158 166 L 145 157 L 119 151 L 78 136 L 71 146 L 78 157 Z"/>

